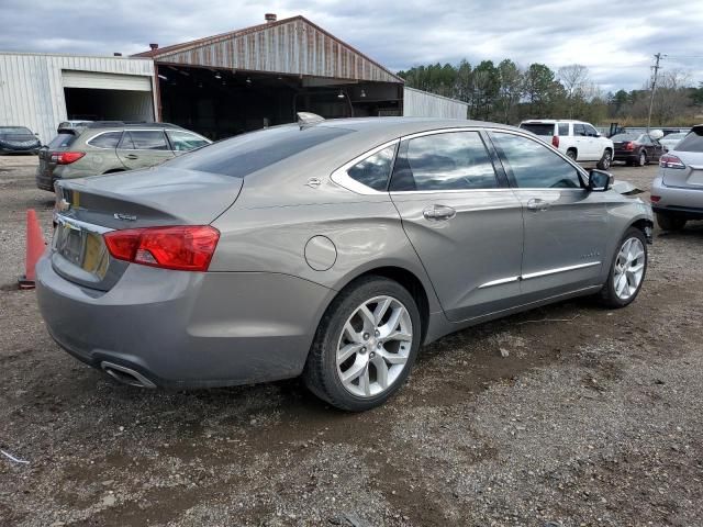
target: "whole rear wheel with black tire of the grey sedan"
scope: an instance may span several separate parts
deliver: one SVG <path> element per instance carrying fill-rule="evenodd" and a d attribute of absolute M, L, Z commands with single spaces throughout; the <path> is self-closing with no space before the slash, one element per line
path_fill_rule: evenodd
<path fill-rule="evenodd" d="M 337 408 L 379 406 L 408 379 L 421 334 L 420 311 L 405 288 L 382 277 L 355 280 L 322 317 L 303 381 Z"/>

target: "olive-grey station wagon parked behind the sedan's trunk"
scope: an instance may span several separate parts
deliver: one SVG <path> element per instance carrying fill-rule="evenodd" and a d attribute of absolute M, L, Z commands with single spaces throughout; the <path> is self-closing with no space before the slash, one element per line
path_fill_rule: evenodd
<path fill-rule="evenodd" d="M 167 123 L 70 123 L 59 126 L 58 135 L 40 150 L 36 186 L 54 191 L 58 179 L 152 167 L 210 143 L 201 135 Z"/>

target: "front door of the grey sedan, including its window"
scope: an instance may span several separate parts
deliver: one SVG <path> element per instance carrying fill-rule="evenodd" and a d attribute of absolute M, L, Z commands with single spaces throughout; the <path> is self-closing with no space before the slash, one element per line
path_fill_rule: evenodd
<path fill-rule="evenodd" d="M 531 137 L 490 137 L 523 205 L 523 301 L 598 284 L 606 260 L 606 192 L 590 192 L 580 168 Z"/>

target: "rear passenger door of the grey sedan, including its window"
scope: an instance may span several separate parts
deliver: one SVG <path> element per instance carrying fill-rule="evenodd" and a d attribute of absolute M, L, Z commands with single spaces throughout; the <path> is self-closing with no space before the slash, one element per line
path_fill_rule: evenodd
<path fill-rule="evenodd" d="M 453 322 L 507 309 L 520 295 L 522 206 L 484 141 L 479 130 L 403 138 L 390 183 L 403 228 Z"/>

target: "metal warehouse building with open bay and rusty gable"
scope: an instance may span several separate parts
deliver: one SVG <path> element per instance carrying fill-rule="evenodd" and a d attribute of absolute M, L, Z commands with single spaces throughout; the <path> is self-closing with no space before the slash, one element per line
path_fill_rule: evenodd
<path fill-rule="evenodd" d="M 327 119 L 466 119 L 467 104 L 412 90 L 393 72 L 303 16 L 133 57 L 0 53 L 0 125 L 25 125 L 43 142 L 66 120 L 165 121 L 213 139 Z"/>

